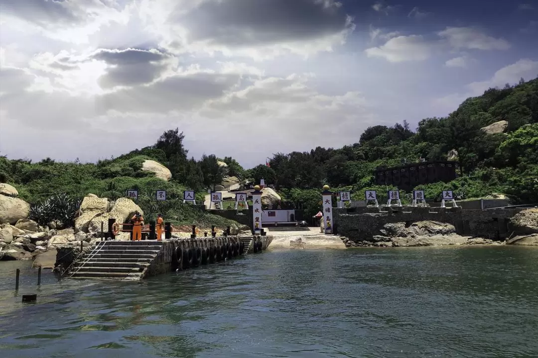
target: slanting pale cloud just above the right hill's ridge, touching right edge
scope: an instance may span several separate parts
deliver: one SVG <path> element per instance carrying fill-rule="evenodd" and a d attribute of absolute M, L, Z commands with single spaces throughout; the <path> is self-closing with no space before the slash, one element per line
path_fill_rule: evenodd
<path fill-rule="evenodd" d="M 452 93 L 448 96 L 437 98 L 433 101 L 432 105 L 437 111 L 443 111 L 446 115 L 452 111 L 455 111 L 459 104 L 461 104 L 466 98 L 480 96 L 492 87 L 504 87 L 505 84 L 511 85 L 518 83 L 520 78 L 524 78 L 527 81 L 535 78 L 538 74 L 538 61 L 530 59 L 521 59 L 513 64 L 509 64 L 500 70 L 486 81 L 475 81 L 465 86 L 464 92 Z"/>

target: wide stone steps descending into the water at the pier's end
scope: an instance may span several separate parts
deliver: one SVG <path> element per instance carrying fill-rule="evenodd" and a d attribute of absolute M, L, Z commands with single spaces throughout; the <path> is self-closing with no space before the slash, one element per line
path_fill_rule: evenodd
<path fill-rule="evenodd" d="M 74 263 L 69 278 L 139 280 L 162 245 L 153 240 L 97 243 Z"/>

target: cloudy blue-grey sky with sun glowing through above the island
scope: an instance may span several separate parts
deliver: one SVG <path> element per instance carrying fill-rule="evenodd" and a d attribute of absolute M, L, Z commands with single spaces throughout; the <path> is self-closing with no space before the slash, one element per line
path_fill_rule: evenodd
<path fill-rule="evenodd" d="M 244 167 L 538 76 L 538 0 L 0 0 L 0 155 Z"/>

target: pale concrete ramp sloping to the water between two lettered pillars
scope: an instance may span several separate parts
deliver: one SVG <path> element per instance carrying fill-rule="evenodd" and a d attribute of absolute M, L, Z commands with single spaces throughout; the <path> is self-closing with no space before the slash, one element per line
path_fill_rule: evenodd
<path fill-rule="evenodd" d="M 324 235 L 320 228 L 312 228 L 310 231 L 272 231 L 273 240 L 267 250 L 291 250 L 299 249 L 298 241 L 302 249 L 345 249 L 342 239 L 336 235 Z"/>

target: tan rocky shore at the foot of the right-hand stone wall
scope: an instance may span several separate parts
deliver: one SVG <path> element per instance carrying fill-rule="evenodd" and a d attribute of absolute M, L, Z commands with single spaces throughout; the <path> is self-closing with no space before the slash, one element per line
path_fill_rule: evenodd
<path fill-rule="evenodd" d="M 454 225 L 420 221 L 387 223 L 378 228 L 378 235 L 365 239 L 343 237 L 346 247 L 404 247 L 441 245 L 527 245 L 538 246 L 538 209 L 526 209 L 509 223 L 511 235 L 507 240 L 492 240 L 477 236 L 461 236 Z"/>

